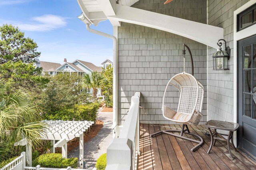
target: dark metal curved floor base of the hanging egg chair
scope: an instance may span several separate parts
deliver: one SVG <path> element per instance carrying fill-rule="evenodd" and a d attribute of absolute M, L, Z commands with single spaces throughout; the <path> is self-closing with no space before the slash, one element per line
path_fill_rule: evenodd
<path fill-rule="evenodd" d="M 186 127 L 186 129 L 185 129 L 185 127 Z M 179 132 L 180 135 L 176 135 L 176 134 L 170 133 L 170 132 Z M 181 139 L 185 139 L 185 140 L 188 140 L 188 141 L 191 141 L 191 142 L 198 143 L 198 145 L 196 145 L 194 148 L 192 148 L 191 151 L 195 151 L 196 149 L 198 149 L 198 147 L 200 147 L 200 146 L 203 145 L 203 143 L 204 143 L 204 140 L 202 139 L 202 137 L 200 137 L 200 136 L 197 135 L 197 134 L 190 133 L 190 131 L 189 131 L 189 129 L 188 129 L 188 125 L 185 125 L 185 124 L 182 125 L 181 130 L 164 130 L 164 131 L 159 131 L 159 132 L 153 133 L 153 134 L 151 134 L 150 136 L 151 136 L 151 137 L 154 137 L 154 136 L 160 135 L 160 134 L 162 134 L 162 133 L 165 133 L 165 134 L 167 134 L 167 135 L 172 135 L 172 136 L 174 136 L 174 137 L 178 137 L 178 138 L 181 138 Z M 188 138 L 188 137 L 184 137 L 184 136 L 183 136 L 183 133 L 186 133 L 186 134 L 188 134 L 188 135 L 193 135 L 193 136 L 195 136 L 195 137 L 198 137 L 200 140 L 197 141 L 197 140 L 194 140 L 194 139 L 191 139 L 191 138 Z"/>

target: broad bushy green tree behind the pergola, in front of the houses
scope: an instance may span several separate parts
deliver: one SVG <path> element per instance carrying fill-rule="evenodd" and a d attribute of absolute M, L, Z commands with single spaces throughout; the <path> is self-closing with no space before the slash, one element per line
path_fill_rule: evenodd
<path fill-rule="evenodd" d="M 73 108 L 88 100 L 88 94 L 82 91 L 80 76 L 64 72 L 50 77 L 50 82 L 41 94 L 39 106 L 44 114 Z"/>

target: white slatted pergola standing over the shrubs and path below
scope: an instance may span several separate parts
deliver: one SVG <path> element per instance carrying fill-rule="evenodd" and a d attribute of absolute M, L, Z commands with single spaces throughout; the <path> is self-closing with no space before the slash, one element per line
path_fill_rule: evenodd
<path fill-rule="evenodd" d="M 91 125 L 94 124 L 93 121 L 62 121 L 62 120 L 44 120 L 42 121 L 49 125 L 46 134 L 42 135 L 41 139 L 50 140 L 53 148 L 52 153 L 55 153 L 56 147 L 62 147 L 62 158 L 68 157 L 67 142 L 74 139 L 75 137 L 80 138 L 79 143 L 79 160 L 83 162 L 84 158 L 84 132 L 90 129 Z M 55 141 L 58 141 L 55 143 Z M 26 145 L 26 159 L 29 166 L 32 166 L 32 150 L 30 143 L 27 143 L 26 139 L 23 139 L 15 144 L 24 146 Z M 80 164 L 81 166 L 81 164 Z M 82 166 L 81 166 L 82 167 Z"/>

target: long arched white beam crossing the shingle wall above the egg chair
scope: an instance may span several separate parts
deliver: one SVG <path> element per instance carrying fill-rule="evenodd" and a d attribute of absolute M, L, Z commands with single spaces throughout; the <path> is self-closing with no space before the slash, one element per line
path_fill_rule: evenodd
<path fill-rule="evenodd" d="M 224 29 L 221 27 L 184 20 L 129 6 L 122 6 L 120 4 L 116 4 L 116 15 L 108 16 L 108 19 L 167 31 L 187 37 L 215 49 L 219 48 L 216 42 L 218 42 L 218 39 L 223 38 L 224 33 Z"/>

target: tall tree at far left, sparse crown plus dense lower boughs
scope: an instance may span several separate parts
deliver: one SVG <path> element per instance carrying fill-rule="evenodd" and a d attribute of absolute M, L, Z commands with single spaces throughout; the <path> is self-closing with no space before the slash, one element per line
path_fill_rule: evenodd
<path fill-rule="evenodd" d="M 15 89 L 21 87 L 38 93 L 48 78 L 42 68 L 35 68 L 34 58 L 40 56 L 33 39 L 25 38 L 18 27 L 4 24 L 0 27 L 0 80 Z"/>

